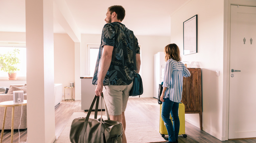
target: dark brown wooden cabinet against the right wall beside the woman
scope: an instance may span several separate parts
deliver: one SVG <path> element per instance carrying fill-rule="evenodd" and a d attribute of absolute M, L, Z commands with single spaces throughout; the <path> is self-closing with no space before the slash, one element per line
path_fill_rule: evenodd
<path fill-rule="evenodd" d="M 188 68 L 190 77 L 183 77 L 183 90 L 181 103 L 185 105 L 185 114 L 199 113 L 200 130 L 202 123 L 202 83 L 201 68 Z"/>

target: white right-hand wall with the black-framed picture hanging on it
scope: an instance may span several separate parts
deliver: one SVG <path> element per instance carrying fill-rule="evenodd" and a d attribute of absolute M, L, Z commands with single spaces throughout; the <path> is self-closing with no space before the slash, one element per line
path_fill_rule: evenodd
<path fill-rule="evenodd" d="M 198 53 L 183 55 L 183 22 L 198 14 Z M 222 140 L 224 2 L 192 0 L 171 16 L 171 42 L 181 49 L 182 61 L 202 69 L 203 130 Z M 220 76 L 215 75 L 220 71 Z M 185 120 L 200 127 L 198 114 Z"/>

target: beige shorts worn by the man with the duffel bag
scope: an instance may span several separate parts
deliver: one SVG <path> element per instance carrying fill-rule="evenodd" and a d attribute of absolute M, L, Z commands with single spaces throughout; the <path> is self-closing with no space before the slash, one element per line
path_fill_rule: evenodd
<path fill-rule="evenodd" d="M 103 87 L 104 100 L 109 115 L 121 115 L 125 111 L 133 83 L 127 86 L 108 85 Z"/>

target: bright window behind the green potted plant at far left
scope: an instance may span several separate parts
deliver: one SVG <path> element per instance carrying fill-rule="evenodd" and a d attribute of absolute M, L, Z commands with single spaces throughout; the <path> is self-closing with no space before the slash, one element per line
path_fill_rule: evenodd
<path fill-rule="evenodd" d="M 13 52 L 14 49 L 19 50 L 17 58 L 19 58 L 20 63 L 17 64 L 19 71 L 17 72 L 17 79 L 26 79 L 27 74 L 27 62 L 26 62 L 26 44 L 25 43 L 0 43 L 0 55 L 7 54 L 8 52 Z M 8 73 L 0 70 L 0 79 L 8 79 Z"/>

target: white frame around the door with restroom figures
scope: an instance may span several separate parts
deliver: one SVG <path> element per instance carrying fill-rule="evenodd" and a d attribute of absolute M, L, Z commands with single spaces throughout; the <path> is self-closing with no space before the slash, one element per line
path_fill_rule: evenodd
<path fill-rule="evenodd" d="M 231 5 L 254 6 L 255 0 L 224 0 L 224 45 L 223 45 L 223 119 L 222 140 L 228 140 L 229 115 L 229 66 L 230 66 L 230 16 Z"/>

